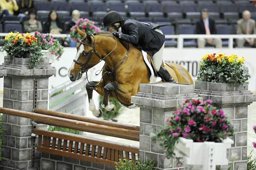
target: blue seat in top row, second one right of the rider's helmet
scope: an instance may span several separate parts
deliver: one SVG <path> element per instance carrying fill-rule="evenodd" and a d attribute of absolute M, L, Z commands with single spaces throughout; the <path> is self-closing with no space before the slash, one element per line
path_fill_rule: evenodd
<path fill-rule="evenodd" d="M 155 1 L 145 1 L 145 12 L 149 17 L 163 17 L 163 7 L 161 3 Z"/>

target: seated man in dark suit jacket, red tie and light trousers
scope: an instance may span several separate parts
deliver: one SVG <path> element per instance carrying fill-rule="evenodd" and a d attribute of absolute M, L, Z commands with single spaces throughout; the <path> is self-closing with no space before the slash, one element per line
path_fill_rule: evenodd
<path fill-rule="evenodd" d="M 196 23 L 197 34 L 216 34 L 215 21 L 209 18 L 208 9 L 202 9 L 201 20 Z M 221 38 L 198 38 L 198 48 L 204 48 L 205 44 L 214 45 L 216 48 L 222 48 Z"/>

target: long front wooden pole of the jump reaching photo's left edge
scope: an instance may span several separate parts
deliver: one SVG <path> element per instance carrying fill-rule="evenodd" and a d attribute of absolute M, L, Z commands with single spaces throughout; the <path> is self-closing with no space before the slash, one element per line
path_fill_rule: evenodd
<path fill-rule="evenodd" d="M 8 115 L 16 115 L 24 118 L 34 119 L 36 123 L 48 124 L 52 126 L 64 127 L 73 130 L 80 130 L 84 132 L 96 133 L 100 135 L 108 135 L 117 138 L 124 138 L 133 141 L 140 141 L 140 132 L 137 130 L 130 130 L 120 127 L 111 127 L 107 125 L 88 123 L 84 121 L 70 120 L 67 118 L 60 118 L 50 115 L 42 115 L 38 113 L 25 112 L 15 109 L 0 107 L 0 113 Z"/>

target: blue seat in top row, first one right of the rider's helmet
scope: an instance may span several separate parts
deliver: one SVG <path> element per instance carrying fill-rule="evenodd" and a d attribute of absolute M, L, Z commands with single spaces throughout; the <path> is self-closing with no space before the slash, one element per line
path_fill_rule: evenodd
<path fill-rule="evenodd" d="M 142 3 L 136 0 L 128 0 L 125 5 L 127 5 L 127 12 L 131 17 L 145 17 L 146 13 Z"/>

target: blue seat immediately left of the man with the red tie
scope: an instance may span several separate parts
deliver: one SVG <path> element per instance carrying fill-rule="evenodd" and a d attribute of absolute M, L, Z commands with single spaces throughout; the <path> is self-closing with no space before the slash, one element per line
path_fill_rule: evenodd
<path fill-rule="evenodd" d="M 181 24 L 178 27 L 178 34 L 195 34 L 195 25 Z M 196 47 L 195 39 L 184 39 L 184 47 Z"/>

